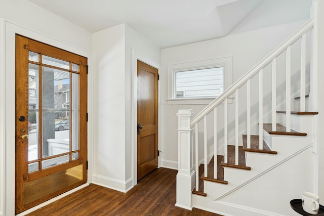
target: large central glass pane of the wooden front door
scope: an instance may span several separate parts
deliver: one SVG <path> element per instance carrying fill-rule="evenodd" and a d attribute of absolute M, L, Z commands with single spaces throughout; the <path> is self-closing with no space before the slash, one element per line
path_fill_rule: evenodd
<path fill-rule="evenodd" d="M 70 73 L 43 66 L 43 158 L 70 152 L 69 99 Z"/>

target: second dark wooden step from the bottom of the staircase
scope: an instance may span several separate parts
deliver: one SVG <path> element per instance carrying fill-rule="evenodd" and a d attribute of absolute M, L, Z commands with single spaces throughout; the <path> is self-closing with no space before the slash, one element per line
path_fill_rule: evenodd
<path fill-rule="evenodd" d="M 207 167 L 207 177 L 205 176 L 205 172 L 201 175 L 200 179 L 210 182 L 216 182 L 221 184 L 227 184 L 227 181 L 224 181 L 224 167 L 221 166 L 221 161 L 223 159 L 223 155 L 217 155 L 217 179 L 214 179 L 214 156 L 208 164 Z"/>

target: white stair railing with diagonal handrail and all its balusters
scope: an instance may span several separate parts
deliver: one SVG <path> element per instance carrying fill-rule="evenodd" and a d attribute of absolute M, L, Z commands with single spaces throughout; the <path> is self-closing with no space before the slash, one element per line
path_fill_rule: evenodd
<path fill-rule="evenodd" d="M 218 151 L 219 147 L 224 147 L 224 163 L 228 163 L 228 116 L 231 116 L 229 112 L 230 103 L 229 100 L 232 100 L 232 95 L 235 95 L 234 103 L 235 103 L 235 111 L 233 116 L 235 116 L 235 126 L 234 126 L 234 136 L 235 136 L 235 164 L 238 165 L 238 139 L 239 139 L 239 106 L 238 106 L 238 96 L 239 90 L 241 87 L 246 85 L 246 93 L 247 93 L 247 118 L 244 119 L 246 121 L 246 133 L 247 133 L 247 148 L 251 148 L 251 79 L 258 75 L 259 76 L 259 89 L 253 90 L 258 91 L 258 101 L 259 101 L 259 149 L 263 149 L 263 71 L 264 68 L 271 65 L 271 124 L 272 130 L 276 131 L 276 99 L 277 99 L 277 83 L 276 83 L 276 58 L 286 52 L 286 128 L 287 132 L 291 131 L 290 126 L 290 118 L 291 118 L 291 46 L 299 39 L 301 39 L 301 62 L 300 62 L 300 110 L 305 110 L 305 68 L 306 68 L 306 33 L 310 31 L 313 27 L 313 20 L 309 20 L 306 22 L 300 29 L 298 29 L 294 34 L 292 34 L 289 38 L 287 38 L 282 44 L 280 44 L 276 49 L 274 49 L 268 56 L 262 59 L 256 66 L 254 66 L 250 71 L 248 71 L 244 76 L 238 79 L 235 83 L 233 83 L 223 94 L 221 94 L 218 98 L 216 98 L 213 102 L 207 105 L 201 112 L 199 112 L 196 116 L 194 116 L 190 121 L 190 127 L 194 128 L 195 131 L 195 190 L 198 191 L 198 180 L 199 180 L 199 158 L 198 158 L 198 122 L 204 119 L 204 176 L 207 177 L 208 175 L 208 136 L 207 136 L 207 115 L 214 111 L 214 178 L 217 179 L 217 154 L 222 154 Z M 217 136 L 217 129 L 221 128 L 218 125 L 218 113 L 220 109 L 218 107 L 220 105 L 224 105 L 224 143 L 219 144 L 218 136 Z M 255 114 L 255 113 L 254 113 Z M 179 138 L 180 140 L 180 138 Z M 180 142 L 180 141 L 179 141 Z M 180 145 L 180 143 L 179 143 Z M 190 143 L 190 146 L 193 146 Z M 180 147 L 179 147 L 180 150 Z M 181 157 L 182 152 L 179 152 L 179 157 Z M 180 161 L 180 159 L 179 159 Z M 178 189 L 177 189 L 178 190 Z M 178 197 L 178 192 L 177 192 Z"/>

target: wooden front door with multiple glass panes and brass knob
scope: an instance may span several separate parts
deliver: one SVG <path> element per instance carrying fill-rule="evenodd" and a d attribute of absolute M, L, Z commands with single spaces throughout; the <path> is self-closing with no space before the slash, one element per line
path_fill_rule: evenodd
<path fill-rule="evenodd" d="M 15 212 L 87 182 L 87 58 L 16 35 Z"/>

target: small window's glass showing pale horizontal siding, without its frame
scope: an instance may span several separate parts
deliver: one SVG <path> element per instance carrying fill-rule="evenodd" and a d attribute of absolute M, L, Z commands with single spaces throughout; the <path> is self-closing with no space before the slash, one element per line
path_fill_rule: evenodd
<path fill-rule="evenodd" d="M 223 93 L 223 68 L 176 71 L 176 98 L 219 96 Z"/>

